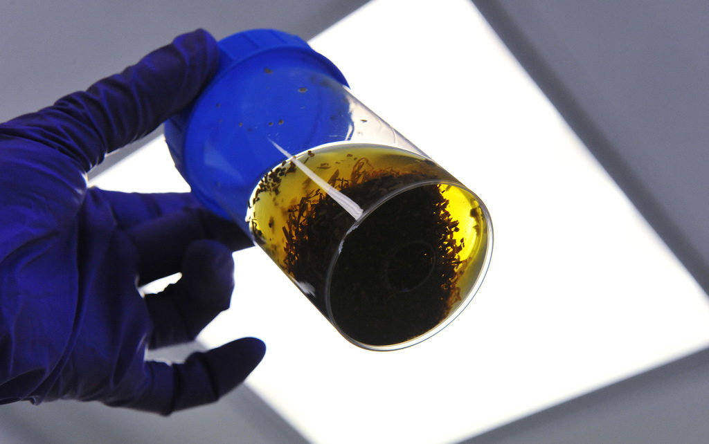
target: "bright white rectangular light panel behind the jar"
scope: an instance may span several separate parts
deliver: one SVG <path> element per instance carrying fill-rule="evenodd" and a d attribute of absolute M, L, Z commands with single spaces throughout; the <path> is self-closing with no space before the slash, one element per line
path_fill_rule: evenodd
<path fill-rule="evenodd" d="M 452 443 L 709 346 L 709 303 L 468 0 L 374 0 L 311 41 L 355 96 L 480 195 L 491 268 L 403 351 L 341 338 L 258 249 L 200 336 L 267 343 L 247 384 L 314 443 Z M 189 189 L 162 140 L 97 178 Z"/>

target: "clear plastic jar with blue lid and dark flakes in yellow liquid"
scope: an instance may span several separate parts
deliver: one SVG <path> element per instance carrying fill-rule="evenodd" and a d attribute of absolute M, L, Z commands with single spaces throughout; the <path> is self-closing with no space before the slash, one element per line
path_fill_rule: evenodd
<path fill-rule="evenodd" d="M 489 266 L 482 201 L 303 40 L 252 30 L 220 48 L 215 79 L 165 125 L 193 193 L 357 346 L 393 350 L 440 331 Z"/>

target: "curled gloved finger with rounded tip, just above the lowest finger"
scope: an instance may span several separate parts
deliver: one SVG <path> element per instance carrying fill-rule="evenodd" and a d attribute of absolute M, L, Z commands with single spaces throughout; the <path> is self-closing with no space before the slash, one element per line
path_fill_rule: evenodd
<path fill-rule="evenodd" d="M 201 239 L 186 249 L 182 278 L 157 295 L 146 295 L 152 318 L 150 348 L 192 341 L 229 308 L 234 290 L 231 251 L 217 241 Z"/>

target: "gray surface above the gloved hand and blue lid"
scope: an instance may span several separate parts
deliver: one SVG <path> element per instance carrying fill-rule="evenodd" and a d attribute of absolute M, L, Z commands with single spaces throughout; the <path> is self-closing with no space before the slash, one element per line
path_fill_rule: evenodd
<path fill-rule="evenodd" d="M 196 28 L 224 38 L 276 28 L 308 40 L 367 0 L 5 0 L 0 2 L 0 121 L 51 105 Z M 147 143 L 106 157 L 96 176 Z"/>

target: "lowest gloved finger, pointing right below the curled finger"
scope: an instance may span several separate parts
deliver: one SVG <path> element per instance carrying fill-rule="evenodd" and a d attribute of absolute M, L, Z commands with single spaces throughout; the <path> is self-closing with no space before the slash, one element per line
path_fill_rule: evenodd
<path fill-rule="evenodd" d="M 149 361 L 150 381 L 143 393 L 129 402 L 111 406 L 153 411 L 169 415 L 216 402 L 240 385 L 261 362 L 266 346 L 257 338 L 242 338 L 206 352 L 189 355 L 184 363 Z"/>

